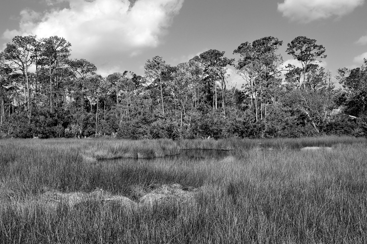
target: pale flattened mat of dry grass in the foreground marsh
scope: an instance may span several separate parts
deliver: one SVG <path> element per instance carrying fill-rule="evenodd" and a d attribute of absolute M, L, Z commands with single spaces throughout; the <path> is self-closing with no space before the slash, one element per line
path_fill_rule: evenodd
<path fill-rule="evenodd" d="M 139 186 L 131 186 L 130 195 L 140 196 L 135 202 L 127 196 L 113 195 L 103 189 L 96 189 L 92 192 L 69 192 L 50 191 L 44 189 L 45 192 L 36 197 L 28 197 L 22 200 L 3 201 L 3 206 L 11 206 L 13 211 L 25 212 L 34 207 L 41 207 L 44 210 L 57 211 L 60 207 L 73 209 L 80 206 L 88 206 L 90 204 L 99 204 L 103 207 L 119 206 L 125 208 L 131 207 L 153 207 L 156 204 L 166 203 L 189 203 L 194 201 L 194 193 L 197 189 L 192 187 L 182 187 L 179 184 L 172 185 L 150 185 L 143 191 L 136 192 Z"/>

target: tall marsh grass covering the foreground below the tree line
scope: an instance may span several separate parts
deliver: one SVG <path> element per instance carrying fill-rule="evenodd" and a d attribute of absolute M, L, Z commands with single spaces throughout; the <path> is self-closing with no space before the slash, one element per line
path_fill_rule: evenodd
<path fill-rule="evenodd" d="M 1 243 L 365 243 L 366 139 L 224 141 L 0 140 Z M 203 160 L 87 162 L 92 157 L 233 147 Z M 331 150 L 301 151 L 303 147 Z M 273 150 L 269 150 L 272 148 Z M 98 152 L 101 149 L 102 152 Z M 156 186 L 197 188 L 147 208 L 87 201 L 45 206 L 44 192 L 96 188 L 137 201 Z M 160 189 L 160 190 L 157 190 Z M 167 188 L 167 191 L 172 191 Z"/>

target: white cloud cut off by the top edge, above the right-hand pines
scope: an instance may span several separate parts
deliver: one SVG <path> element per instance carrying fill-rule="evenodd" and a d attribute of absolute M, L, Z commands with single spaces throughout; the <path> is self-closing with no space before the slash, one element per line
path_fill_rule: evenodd
<path fill-rule="evenodd" d="M 284 0 L 278 3 L 278 11 L 291 21 L 309 23 L 331 16 L 341 17 L 363 3 L 364 0 Z"/>

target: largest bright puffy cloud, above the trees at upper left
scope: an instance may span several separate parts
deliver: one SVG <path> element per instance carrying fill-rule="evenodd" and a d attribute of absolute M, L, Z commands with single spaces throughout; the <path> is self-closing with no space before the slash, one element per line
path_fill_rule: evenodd
<path fill-rule="evenodd" d="M 138 55 L 160 43 L 184 0 L 46 0 L 48 5 L 68 2 L 69 8 L 44 13 L 21 12 L 15 34 L 64 37 L 72 44 L 72 56 L 85 58 L 98 68 L 115 65 L 123 56 Z"/>

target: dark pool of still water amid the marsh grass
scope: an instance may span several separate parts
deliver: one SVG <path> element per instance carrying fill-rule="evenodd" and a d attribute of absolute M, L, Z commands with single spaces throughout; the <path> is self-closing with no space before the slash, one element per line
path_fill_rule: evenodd
<path fill-rule="evenodd" d="M 102 159 L 99 162 L 154 162 L 157 160 L 174 160 L 175 162 L 189 161 L 201 161 L 205 159 L 223 159 L 227 156 L 234 155 L 235 151 L 225 150 L 206 150 L 206 149 L 187 149 L 180 150 L 177 155 L 168 155 L 161 158 L 117 158 L 117 159 Z"/>

